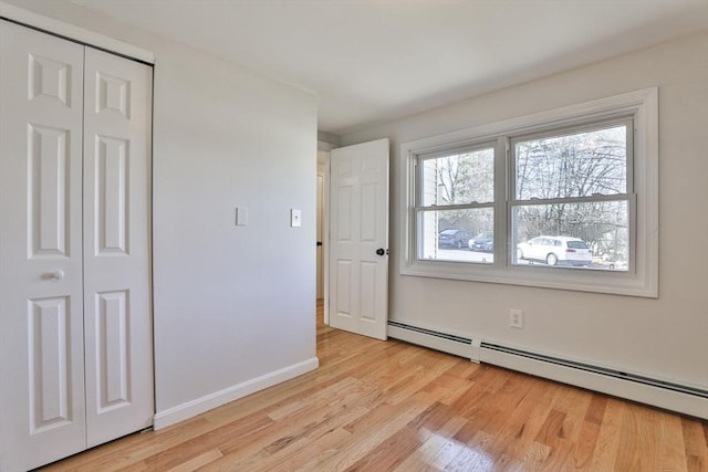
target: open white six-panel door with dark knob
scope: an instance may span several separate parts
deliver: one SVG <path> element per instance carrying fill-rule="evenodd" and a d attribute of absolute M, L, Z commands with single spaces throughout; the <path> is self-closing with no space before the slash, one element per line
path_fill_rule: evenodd
<path fill-rule="evenodd" d="M 388 139 L 333 149 L 330 166 L 330 324 L 386 339 Z"/>

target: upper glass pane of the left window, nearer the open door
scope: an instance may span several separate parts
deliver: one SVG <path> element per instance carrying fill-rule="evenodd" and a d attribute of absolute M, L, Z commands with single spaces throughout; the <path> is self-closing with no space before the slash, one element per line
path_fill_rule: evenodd
<path fill-rule="evenodd" d="M 494 200 L 494 149 L 424 159 L 423 206 Z"/>

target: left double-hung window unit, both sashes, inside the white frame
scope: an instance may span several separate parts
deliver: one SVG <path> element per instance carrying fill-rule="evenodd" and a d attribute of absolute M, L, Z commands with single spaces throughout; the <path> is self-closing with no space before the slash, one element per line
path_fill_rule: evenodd
<path fill-rule="evenodd" d="M 491 251 L 477 254 L 469 243 L 494 228 L 493 145 L 421 155 L 416 167 L 416 259 L 492 263 Z"/>

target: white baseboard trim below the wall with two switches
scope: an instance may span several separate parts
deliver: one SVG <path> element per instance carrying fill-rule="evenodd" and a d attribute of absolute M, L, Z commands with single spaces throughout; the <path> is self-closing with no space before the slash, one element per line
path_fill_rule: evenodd
<path fill-rule="evenodd" d="M 320 359 L 312 357 L 292 366 L 284 367 L 264 376 L 247 380 L 244 382 L 225 388 L 220 391 L 206 395 L 186 403 L 178 405 L 165 411 L 158 411 L 153 417 L 153 428 L 155 430 L 167 428 L 168 426 L 178 423 L 186 419 L 196 417 L 205 411 L 226 405 L 230 401 L 238 400 L 248 395 L 281 384 L 285 380 L 299 377 L 320 366 Z"/>

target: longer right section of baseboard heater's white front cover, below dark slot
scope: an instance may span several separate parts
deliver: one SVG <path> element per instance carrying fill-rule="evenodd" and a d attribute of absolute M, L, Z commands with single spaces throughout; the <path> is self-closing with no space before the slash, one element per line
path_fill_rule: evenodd
<path fill-rule="evenodd" d="M 480 349 L 480 360 L 486 364 L 519 370 L 563 384 L 570 384 L 590 390 L 601 391 L 615 397 L 652 405 L 666 410 L 677 411 L 696 418 L 708 419 L 708 399 L 674 391 L 666 388 L 653 387 L 621 378 L 614 378 L 575 369 L 572 367 L 544 363 L 537 359 L 514 356 L 512 354 Z"/>

